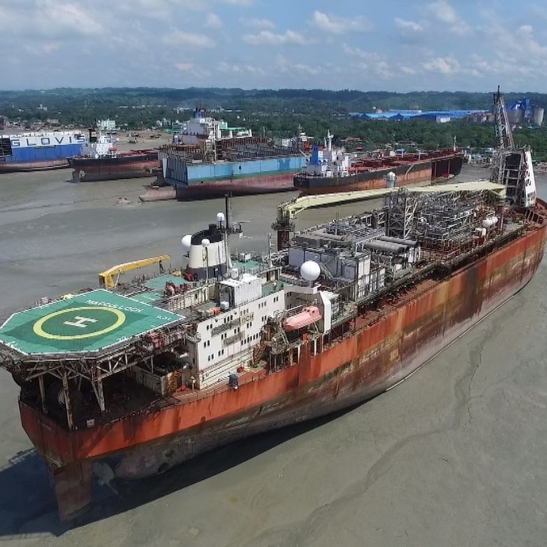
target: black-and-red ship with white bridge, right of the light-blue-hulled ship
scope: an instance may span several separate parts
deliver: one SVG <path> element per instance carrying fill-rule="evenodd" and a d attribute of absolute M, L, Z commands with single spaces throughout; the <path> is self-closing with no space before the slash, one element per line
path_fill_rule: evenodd
<path fill-rule="evenodd" d="M 395 151 L 369 157 L 333 148 L 332 139 L 329 132 L 325 146 L 314 146 L 305 170 L 294 176 L 294 187 L 302 195 L 428 184 L 457 176 L 463 166 L 464 152 L 455 148 L 416 153 Z"/>

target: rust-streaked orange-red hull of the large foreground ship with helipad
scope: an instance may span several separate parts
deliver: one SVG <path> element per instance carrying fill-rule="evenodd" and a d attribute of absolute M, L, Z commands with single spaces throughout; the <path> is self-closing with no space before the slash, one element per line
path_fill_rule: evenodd
<path fill-rule="evenodd" d="M 20 403 L 22 425 L 56 473 L 61 516 L 91 499 L 89 462 L 118 453 L 121 478 L 161 473 L 214 446 L 328 414 L 374 397 L 414 372 L 531 280 L 547 223 L 441 281 L 424 281 L 351 334 L 302 346 L 298 364 L 222 388 L 190 392 L 160 412 L 68 432 Z"/>

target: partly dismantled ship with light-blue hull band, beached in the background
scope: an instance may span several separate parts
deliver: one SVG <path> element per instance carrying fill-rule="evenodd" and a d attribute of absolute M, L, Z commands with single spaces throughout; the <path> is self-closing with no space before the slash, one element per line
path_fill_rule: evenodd
<path fill-rule="evenodd" d="M 293 190 L 293 176 L 306 165 L 310 143 L 304 133 L 280 146 L 196 108 L 177 141 L 161 147 L 158 180 L 142 201 L 208 199 Z"/>

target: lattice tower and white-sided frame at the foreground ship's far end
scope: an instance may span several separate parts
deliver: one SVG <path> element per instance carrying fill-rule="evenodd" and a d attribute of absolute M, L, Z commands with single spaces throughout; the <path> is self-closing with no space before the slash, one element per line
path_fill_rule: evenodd
<path fill-rule="evenodd" d="M 528 147 L 517 148 L 505 108 L 503 94 L 493 95 L 494 125 L 497 148 L 492 158 L 491 181 L 503 184 L 507 199 L 515 205 L 531 207 L 536 203 L 536 180 L 532 167 L 532 153 Z"/>

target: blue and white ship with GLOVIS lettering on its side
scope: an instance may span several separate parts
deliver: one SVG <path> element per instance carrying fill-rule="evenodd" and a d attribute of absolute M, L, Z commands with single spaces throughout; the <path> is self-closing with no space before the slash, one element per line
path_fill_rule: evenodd
<path fill-rule="evenodd" d="M 81 131 L 0 134 L 0 173 L 66 168 L 87 142 Z"/>

